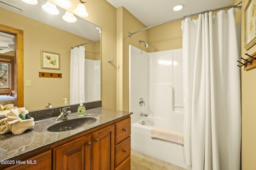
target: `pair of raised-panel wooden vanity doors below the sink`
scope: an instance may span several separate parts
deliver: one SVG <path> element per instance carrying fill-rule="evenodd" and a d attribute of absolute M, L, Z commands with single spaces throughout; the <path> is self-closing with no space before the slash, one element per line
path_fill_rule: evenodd
<path fill-rule="evenodd" d="M 114 170 L 114 125 L 53 149 L 54 170 Z"/>

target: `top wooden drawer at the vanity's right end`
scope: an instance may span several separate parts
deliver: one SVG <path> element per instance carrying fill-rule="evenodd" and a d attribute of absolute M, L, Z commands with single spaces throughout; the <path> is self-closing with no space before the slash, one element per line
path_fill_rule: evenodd
<path fill-rule="evenodd" d="M 116 143 L 131 135 L 131 117 L 116 123 Z"/>

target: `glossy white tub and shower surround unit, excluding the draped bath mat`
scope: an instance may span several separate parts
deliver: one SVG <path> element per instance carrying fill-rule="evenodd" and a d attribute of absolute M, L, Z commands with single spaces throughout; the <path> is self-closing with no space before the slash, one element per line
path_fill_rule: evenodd
<path fill-rule="evenodd" d="M 147 53 L 129 45 L 129 52 L 131 149 L 190 169 L 182 145 L 150 137 L 153 126 L 183 132 L 182 49 Z"/>

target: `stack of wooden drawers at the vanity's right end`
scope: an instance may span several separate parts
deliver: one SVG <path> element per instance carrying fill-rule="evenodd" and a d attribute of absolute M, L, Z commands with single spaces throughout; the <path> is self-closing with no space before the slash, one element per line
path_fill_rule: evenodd
<path fill-rule="evenodd" d="M 131 118 L 115 123 L 115 170 L 130 169 Z"/>

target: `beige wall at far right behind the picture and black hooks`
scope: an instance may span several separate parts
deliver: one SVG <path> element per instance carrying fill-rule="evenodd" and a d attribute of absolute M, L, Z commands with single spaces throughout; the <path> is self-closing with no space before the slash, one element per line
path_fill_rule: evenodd
<path fill-rule="evenodd" d="M 248 51 L 244 49 L 244 9 L 249 0 L 242 0 L 242 29 L 241 29 L 241 57 L 245 57 L 245 53 L 251 55 L 256 51 L 256 45 Z M 235 4 L 235 3 L 234 3 Z M 241 69 L 241 98 L 242 98 L 242 170 L 256 169 L 256 111 L 255 96 L 256 91 L 256 69 L 244 71 Z"/>

